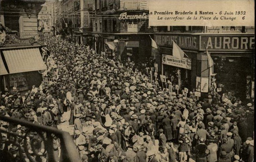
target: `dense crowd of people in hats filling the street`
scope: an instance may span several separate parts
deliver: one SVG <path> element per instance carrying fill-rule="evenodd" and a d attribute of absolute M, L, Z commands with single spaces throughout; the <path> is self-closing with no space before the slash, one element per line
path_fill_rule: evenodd
<path fill-rule="evenodd" d="M 6 93 L 1 96 L 4 103 L 1 102 L 0 109 L 6 116 L 34 122 L 38 112 L 51 110 L 56 106 L 57 99 L 61 100 L 64 109 L 73 105 L 75 110 L 71 111 L 70 123 L 73 124 L 74 118 L 87 123 L 96 121 L 93 123 L 93 135 L 79 129 L 74 130 L 75 139 L 84 136 L 86 140 L 82 147 L 77 145 L 82 160 L 120 160 L 121 156 L 129 159 L 126 156 L 129 148 L 137 154 L 145 152 L 147 158 L 154 156 L 157 160 L 163 160 L 162 156 L 166 153 L 163 150 L 172 148 L 179 152 L 178 139 L 187 137 L 191 137 L 191 143 L 214 142 L 220 147 L 223 139 L 241 136 L 245 146 L 253 146 L 253 139 L 248 139 L 253 137 L 252 102 L 245 103 L 240 99 L 231 101 L 229 94 L 224 94 L 221 99 L 209 95 L 202 101 L 197 100 L 192 91 L 188 96 L 184 93 L 177 95 L 162 88 L 158 82 L 150 82 L 145 71 L 147 64 L 137 67 L 130 60 L 119 62 L 114 58 L 104 59 L 88 47 L 56 37 L 46 37 L 46 43 L 51 51 L 49 60 L 56 65 L 51 65 L 46 75 L 54 78 L 52 83 L 39 89 L 40 96 L 45 96 L 45 99 L 35 107 L 35 94 L 28 92 L 26 95 L 30 96 L 31 102 L 16 106 L 14 102 L 20 98 L 19 94 Z M 63 91 L 65 94 L 71 91 L 71 96 L 63 98 Z M 47 100 L 48 95 L 52 95 L 54 103 Z M 67 104 L 64 104 L 65 100 Z M 28 109 L 25 113 L 16 113 L 24 108 Z M 170 128 L 163 123 L 165 118 L 170 119 Z M 178 122 L 174 124 L 173 120 L 176 119 Z M 55 120 L 48 120 L 47 125 L 53 125 Z M 6 127 L 4 122 L 1 123 L 2 127 Z M 172 131 L 176 129 L 177 137 L 172 135 Z M 205 129 L 209 136 L 205 139 L 192 136 L 200 129 Z M 166 136 L 166 145 L 157 143 L 157 140 L 160 141 L 159 135 Z M 150 143 L 152 145 L 149 146 Z M 218 156 L 222 154 L 225 156 L 225 151 L 218 152 Z M 242 154 L 231 158 L 243 160 Z"/>

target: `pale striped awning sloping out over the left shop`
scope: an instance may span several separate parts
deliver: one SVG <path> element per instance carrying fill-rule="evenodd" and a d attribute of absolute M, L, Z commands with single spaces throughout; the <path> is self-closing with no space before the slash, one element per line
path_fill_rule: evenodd
<path fill-rule="evenodd" d="M 8 49 L 4 50 L 3 54 L 9 69 L 9 74 L 46 69 L 39 48 Z M 0 75 L 4 74 L 6 73 L 3 72 L 2 74 L 1 70 Z"/>

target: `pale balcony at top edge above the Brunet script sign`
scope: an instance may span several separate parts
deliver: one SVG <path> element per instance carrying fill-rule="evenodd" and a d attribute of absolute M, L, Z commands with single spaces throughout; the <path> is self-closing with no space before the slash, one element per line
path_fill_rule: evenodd
<path fill-rule="evenodd" d="M 147 0 L 120 0 L 119 10 L 149 10 L 149 7 Z"/>

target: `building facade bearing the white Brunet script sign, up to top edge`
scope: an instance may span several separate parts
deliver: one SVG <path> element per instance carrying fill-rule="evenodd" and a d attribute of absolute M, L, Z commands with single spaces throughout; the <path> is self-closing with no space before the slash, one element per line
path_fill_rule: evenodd
<path fill-rule="evenodd" d="M 93 49 L 104 57 L 151 56 L 147 0 L 94 0 Z"/>

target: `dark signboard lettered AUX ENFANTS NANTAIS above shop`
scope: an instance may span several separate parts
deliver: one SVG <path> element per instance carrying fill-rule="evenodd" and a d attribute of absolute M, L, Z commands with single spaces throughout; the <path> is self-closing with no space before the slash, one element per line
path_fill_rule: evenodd
<path fill-rule="evenodd" d="M 199 50 L 198 35 L 155 34 L 154 40 L 158 46 L 172 47 L 174 41 L 181 49 Z"/>

